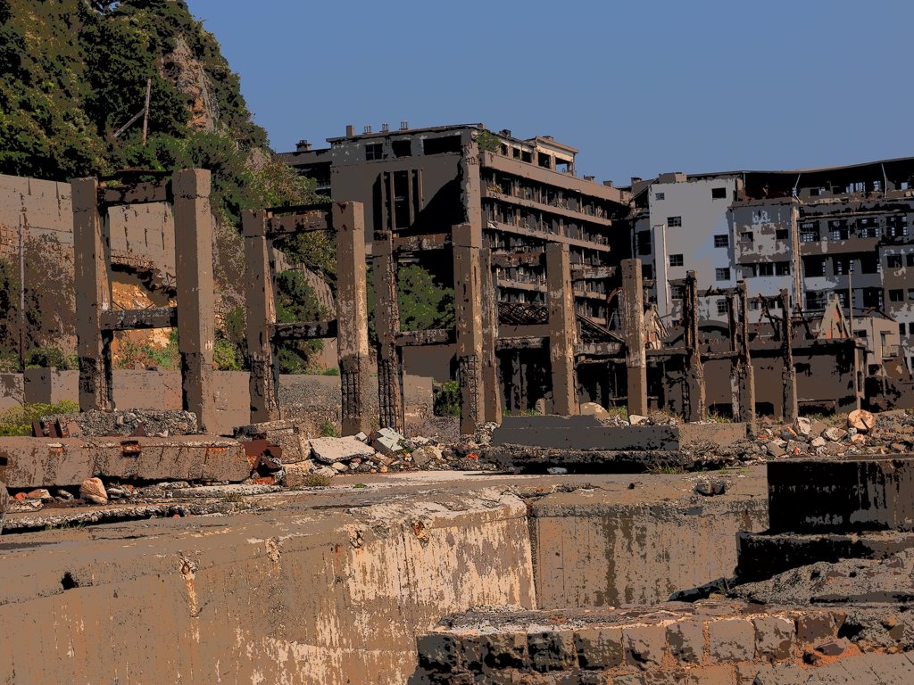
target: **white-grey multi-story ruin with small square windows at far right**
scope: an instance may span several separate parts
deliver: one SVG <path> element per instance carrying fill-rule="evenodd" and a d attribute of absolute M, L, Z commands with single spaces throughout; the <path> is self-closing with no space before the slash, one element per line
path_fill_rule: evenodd
<path fill-rule="evenodd" d="M 855 321 L 871 312 L 894 321 L 896 331 L 883 331 L 885 341 L 874 343 L 879 356 L 902 353 L 914 367 L 914 158 L 661 174 L 633 179 L 632 191 L 639 207 L 632 250 L 655 277 L 652 297 L 665 321 L 678 322 L 681 292 L 670 281 L 686 269 L 696 271 L 700 289 L 746 279 L 750 298 L 789 290 L 805 311 L 823 310 L 834 293 L 845 308 L 853 305 Z M 755 310 L 763 306 L 750 302 Z M 710 320 L 726 312 L 725 301 L 714 297 L 700 307 Z"/>

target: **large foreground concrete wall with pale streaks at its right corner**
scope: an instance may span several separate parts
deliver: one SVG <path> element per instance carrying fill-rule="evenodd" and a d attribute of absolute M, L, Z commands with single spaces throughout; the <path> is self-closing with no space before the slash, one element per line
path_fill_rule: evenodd
<path fill-rule="evenodd" d="M 439 501 L 29 535 L 0 555 L 0 682 L 404 683 L 441 616 L 536 606 L 524 502 Z"/>

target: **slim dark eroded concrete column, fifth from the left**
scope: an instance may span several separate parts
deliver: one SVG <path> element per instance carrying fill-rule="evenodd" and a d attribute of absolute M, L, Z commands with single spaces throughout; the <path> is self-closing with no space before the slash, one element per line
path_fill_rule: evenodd
<path fill-rule="evenodd" d="M 397 349 L 400 332 L 397 297 L 397 256 L 393 234 L 376 231 L 371 246 L 375 279 L 375 329 L 380 349 L 377 353 L 377 405 L 380 426 L 403 432 L 403 376 Z"/>

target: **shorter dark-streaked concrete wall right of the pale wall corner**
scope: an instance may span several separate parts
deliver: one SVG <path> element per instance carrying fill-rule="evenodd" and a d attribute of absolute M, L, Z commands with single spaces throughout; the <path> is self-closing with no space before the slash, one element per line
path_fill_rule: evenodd
<path fill-rule="evenodd" d="M 664 602 L 679 590 L 732 577 L 737 532 L 768 527 L 759 484 L 741 483 L 694 505 L 625 503 L 624 487 L 586 499 L 556 493 L 533 505 L 540 608 Z"/>

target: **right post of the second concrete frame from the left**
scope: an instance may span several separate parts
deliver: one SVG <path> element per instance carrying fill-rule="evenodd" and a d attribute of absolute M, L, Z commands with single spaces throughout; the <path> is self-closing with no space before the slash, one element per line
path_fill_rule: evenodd
<path fill-rule="evenodd" d="M 344 435 L 371 430 L 368 387 L 368 300 L 365 269 L 365 207 L 336 203 L 336 345 L 343 395 Z"/>

